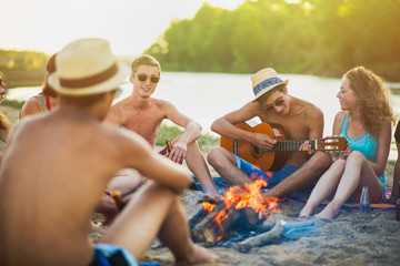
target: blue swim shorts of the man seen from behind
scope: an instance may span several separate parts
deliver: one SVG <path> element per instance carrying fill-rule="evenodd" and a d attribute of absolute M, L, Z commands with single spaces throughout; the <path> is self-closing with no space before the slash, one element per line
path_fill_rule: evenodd
<path fill-rule="evenodd" d="M 100 243 L 94 246 L 90 266 L 137 266 L 136 258 L 123 247 Z"/>

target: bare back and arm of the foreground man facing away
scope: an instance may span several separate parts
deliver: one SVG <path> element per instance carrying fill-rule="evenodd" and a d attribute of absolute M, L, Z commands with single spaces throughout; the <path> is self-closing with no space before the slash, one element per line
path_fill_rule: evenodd
<path fill-rule="evenodd" d="M 0 176 L 0 258 L 7 255 L 13 265 L 88 265 L 92 209 L 108 181 L 129 166 L 171 186 L 188 184 L 180 180 L 184 172 L 154 156 L 139 135 L 81 111 L 62 109 L 17 125 Z"/>

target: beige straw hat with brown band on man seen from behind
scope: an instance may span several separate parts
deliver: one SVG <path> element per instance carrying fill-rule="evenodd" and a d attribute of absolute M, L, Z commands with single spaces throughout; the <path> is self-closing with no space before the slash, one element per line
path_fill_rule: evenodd
<path fill-rule="evenodd" d="M 48 82 L 61 95 L 84 96 L 116 90 L 128 73 L 106 40 L 79 39 L 57 54 Z"/>

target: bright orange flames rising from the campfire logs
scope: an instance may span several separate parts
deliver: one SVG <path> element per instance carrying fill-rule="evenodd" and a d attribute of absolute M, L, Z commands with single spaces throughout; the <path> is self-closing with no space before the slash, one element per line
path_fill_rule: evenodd
<path fill-rule="evenodd" d="M 270 214 L 274 212 L 280 212 L 278 208 L 277 197 L 263 197 L 261 195 L 261 187 L 267 186 L 267 182 L 264 180 L 256 180 L 251 184 L 244 184 L 243 187 L 232 186 L 228 190 L 224 195 L 224 208 L 219 211 L 214 217 L 216 222 L 222 234 L 217 237 L 216 241 L 220 241 L 226 235 L 226 231 L 222 225 L 222 221 L 228 217 L 226 209 L 234 207 L 236 209 L 251 207 L 256 213 L 259 214 L 259 218 L 268 217 Z M 211 212 L 214 204 L 202 203 L 203 208 L 207 212 Z"/>

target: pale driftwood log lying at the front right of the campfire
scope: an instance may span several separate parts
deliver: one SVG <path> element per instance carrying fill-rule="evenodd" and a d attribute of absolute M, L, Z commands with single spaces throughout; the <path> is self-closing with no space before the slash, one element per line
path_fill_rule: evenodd
<path fill-rule="evenodd" d="M 262 233 L 258 236 L 248 238 L 239 243 L 236 248 L 242 253 L 249 252 L 252 247 L 259 247 L 266 244 L 274 243 L 279 241 L 284 231 L 286 222 L 278 221 L 271 231 Z"/>

